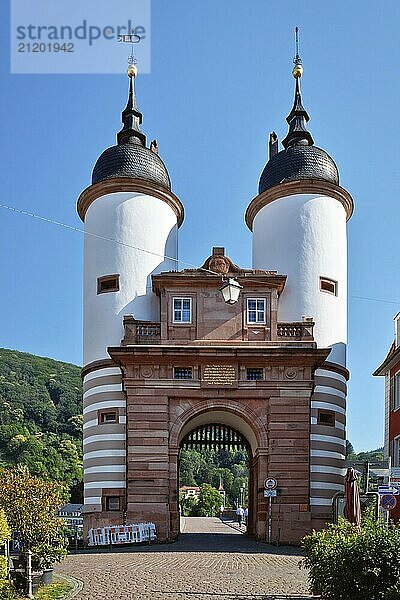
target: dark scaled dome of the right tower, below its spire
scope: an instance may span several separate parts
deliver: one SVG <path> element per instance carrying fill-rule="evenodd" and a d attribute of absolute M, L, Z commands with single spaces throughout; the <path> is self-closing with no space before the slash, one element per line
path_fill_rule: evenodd
<path fill-rule="evenodd" d="M 339 171 L 334 160 L 317 146 L 289 146 L 270 158 L 261 173 L 258 193 L 301 179 L 322 179 L 339 184 Z"/>

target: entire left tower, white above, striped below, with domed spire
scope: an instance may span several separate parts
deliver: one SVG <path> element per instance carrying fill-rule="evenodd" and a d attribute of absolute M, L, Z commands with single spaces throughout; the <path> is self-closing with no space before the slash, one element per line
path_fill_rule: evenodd
<path fill-rule="evenodd" d="M 171 192 L 157 142 L 146 147 L 142 115 L 129 74 L 129 98 L 117 145 L 93 169 L 78 200 L 84 245 L 84 501 L 86 527 L 125 511 L 126 401 L 121 372 L 107 348 L 123 338 L 123 316 L 159 321 L 151 275 L 176 269 L 183 207 Z"/>

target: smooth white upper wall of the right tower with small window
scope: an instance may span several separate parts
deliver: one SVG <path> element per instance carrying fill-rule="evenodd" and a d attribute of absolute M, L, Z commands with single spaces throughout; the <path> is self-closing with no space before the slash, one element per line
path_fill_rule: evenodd
<path fill-rule="evenodd" d="M 253 223 L 253 267 L 287 275 L 279 321 L 315 320 L 319 347 L 332 347 L 329 361 L 346 363 L 346 213 L 328 196 L 297 194 L 262 208 Z M 338 296 L 321 292 L 319 278 L 338 282 Z"/>

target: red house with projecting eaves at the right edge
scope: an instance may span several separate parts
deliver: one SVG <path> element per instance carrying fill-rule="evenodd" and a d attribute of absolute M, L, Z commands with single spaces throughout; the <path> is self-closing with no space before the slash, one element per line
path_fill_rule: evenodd
<path fill-rule="evenodd" d="M 391 459 L 392 467 L 400 468 L 400 313 L 394 322 L 394 341 L 374 375 L 385 377 L 385 458 Z M 396 521 L 400 519 L 400 504 L 390 516 Z"/>

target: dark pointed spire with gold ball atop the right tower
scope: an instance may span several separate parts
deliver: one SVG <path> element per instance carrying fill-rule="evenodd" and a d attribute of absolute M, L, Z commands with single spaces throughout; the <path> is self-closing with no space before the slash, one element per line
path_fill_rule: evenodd
<path fill-rule="evenodd" d="M 294 68 L 292 71 L 293 77 L 296 80 L 296 90 L 293 108 L 286 118 L 286 121 L 289 123 L 289 131 L 285 139 L 282 140 L 284 148 L 297 145 L 312 146 L 314 144 L 311 133 L 307 131 L 307 122 L 310 120 L 310 117 L 301 99 L 300 78 L 303 74 L 303 66 L 299 56 L 298 32 L 298 27 L 296 27 L 296 56 L 293 60 Z"/>

